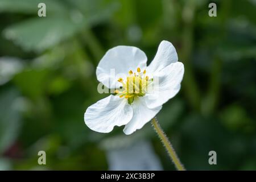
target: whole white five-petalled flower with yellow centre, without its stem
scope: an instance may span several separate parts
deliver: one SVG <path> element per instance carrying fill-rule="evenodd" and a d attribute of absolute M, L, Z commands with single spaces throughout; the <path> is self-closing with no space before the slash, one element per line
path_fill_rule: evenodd
<path fill-rule="evenodd" d="M 148 67 L 145 53 L 137 47 L 109 49 L 98 64 L 96 75 L 102 84 L 116 89 L 115 94 L 89 106 L 84 114 L 85 124 L 101 133 L 122 125 L 127 135 L 141 129 L 179 92 L 184 66 L 177 60 L 174 46 L 166 40 L 160 43 Z M 114 76 L 110 73 L 113 69 Z"/>

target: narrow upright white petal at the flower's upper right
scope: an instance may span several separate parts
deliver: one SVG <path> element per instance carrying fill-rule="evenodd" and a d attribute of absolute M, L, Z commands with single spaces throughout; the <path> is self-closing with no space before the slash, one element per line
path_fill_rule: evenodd
<path fill-rule="evenodd" d="M 147 68 L 148 73 L 159 72 L 171 63 L 177 62 L 177 52 L 172 43 L 163 40 L 158 47 L 154 60 Z"/>

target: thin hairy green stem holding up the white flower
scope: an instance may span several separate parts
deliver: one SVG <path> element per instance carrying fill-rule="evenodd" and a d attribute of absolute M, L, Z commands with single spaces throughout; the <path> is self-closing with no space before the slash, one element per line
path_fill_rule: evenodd
<path fill-rule="evenodd" d="M 159 138 L 161 139 L 164 147 L 166 147 L 166 150 L 170 156 L 170 158 L 172 159 L 172 162 L 174 162 L 175 167 L 177 168 L 177 170 L 179 171 L 185 171 L 185 168 L 183 167 L 183 164 L 181 164 L 180 159 L 178 158 L 174 147 L 172 147 L 172 144 L 170 143 L 170 141 L 168 140 L 168 138 L 166 137 L 166 134 L 164 134 L 163 129 L 161 128 L 161 126 L 158 123 L 158 120 L 155 118 L 152 119 L 152 126 L 154 126 L 156 133 L 158 134 Z"/>

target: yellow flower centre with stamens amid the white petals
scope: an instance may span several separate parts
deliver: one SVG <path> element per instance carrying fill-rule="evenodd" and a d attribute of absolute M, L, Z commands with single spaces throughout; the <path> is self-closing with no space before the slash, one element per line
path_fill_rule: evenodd
<path fill-rule="evenodd" d="M 119 78 L 117 81 L 121 82 L 122 86 L 119 90 L 115 90 L 115 95 L 126 98 L 131 104 L 135 97 L 142 97 L 146 94 L 148 85 L 153 81 L 153 78 L 149 79 L 146 76 L 146 70 L 141 73 L 141 68 L 137 68 L 137 73 L 129 71 L 126 81 L 123 81 L 123 78 Z"/>

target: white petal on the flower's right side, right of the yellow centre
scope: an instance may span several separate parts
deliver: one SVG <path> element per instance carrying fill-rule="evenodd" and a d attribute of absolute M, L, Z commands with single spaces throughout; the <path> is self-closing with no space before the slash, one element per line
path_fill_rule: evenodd
<path fill-rule="evenodd" d="M 184 65 L 180 62 L 172 63 L 154 76 L 154 86 L 147 93 L 146 104 L 149 108 L 163 105 L 180 90 L 180 82 L 184 75 Z"/>

